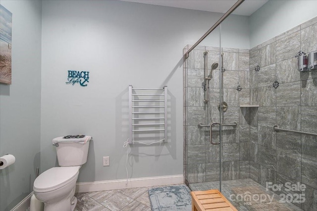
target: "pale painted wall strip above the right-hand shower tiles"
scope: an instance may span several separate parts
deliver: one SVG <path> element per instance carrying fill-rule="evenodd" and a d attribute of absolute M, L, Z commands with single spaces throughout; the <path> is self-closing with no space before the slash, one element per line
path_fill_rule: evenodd
<path fill-rule="evenodd" d="M 316 8 L 316 0 L 269 0 L 250 16 L 250 49 L 316 17 Z"/>

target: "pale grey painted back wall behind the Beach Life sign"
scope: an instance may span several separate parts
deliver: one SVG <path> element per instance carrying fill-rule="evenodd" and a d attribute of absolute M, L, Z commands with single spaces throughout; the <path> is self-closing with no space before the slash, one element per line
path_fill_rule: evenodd
<path fill-rule="evenodd" d="M 131 145 L 129 177 L 183 174 L 182 49 L 221 14 L 72 0 L 43 1 L 42 14 L 42 172 L 57 164 L 54 137 L 88 134 L 94 141 L 78 182 L 126 178 L 122 145 L 128 138 L 131 84 L 168 86 L 170 129 L 167 144 Z M 241 30 L 248 31 L 247 19 L 239 17 Z M 239 45 L 248 48 L 249 42 Z M 65 85 L 69 69 L 90 71 L 88 86 Z M 102 166 L 103 156 L 110 157 L 109 167 Z"/>

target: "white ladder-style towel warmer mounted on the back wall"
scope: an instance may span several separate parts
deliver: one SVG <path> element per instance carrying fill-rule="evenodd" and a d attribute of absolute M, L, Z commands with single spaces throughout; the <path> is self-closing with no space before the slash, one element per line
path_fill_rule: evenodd
<path fill-rule="evenodd" d="M 158 138 L 167 141 L 167 86 L 146 89 L 129 85 L 129 144 Z"/>

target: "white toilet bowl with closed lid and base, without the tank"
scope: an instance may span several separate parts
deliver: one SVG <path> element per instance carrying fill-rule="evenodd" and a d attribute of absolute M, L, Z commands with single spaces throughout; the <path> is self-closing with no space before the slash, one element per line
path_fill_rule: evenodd
<path fill-rule="evenodd" d="M 74 197 L 80 166 L 53 167 L 34 181 L 35 197 L 44 202 L 45 211 L 74 211 Z"/>

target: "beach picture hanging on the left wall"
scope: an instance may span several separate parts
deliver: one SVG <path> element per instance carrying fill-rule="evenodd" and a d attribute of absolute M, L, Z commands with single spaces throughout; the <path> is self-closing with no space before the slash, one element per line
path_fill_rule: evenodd
<path fill-rule="evenodd" d="M 11 84 L 12 13 L 0 4 L 0 83 Z"/>

